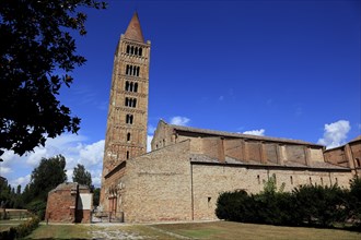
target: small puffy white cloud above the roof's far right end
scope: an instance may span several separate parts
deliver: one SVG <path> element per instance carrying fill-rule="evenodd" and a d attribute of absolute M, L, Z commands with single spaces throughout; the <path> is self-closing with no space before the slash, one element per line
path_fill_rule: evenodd
<path fill-rule="evenodd" d="M 339 120 L 329 124 L 325 124 L 324 137 L 318 140 L 318 144 L 333 148 L 345 144 L 347 133 L 351 130 L 350 122 Z"/>

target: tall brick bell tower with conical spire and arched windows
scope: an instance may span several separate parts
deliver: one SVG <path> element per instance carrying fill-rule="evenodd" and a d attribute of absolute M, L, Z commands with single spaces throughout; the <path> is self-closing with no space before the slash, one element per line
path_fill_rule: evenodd
<path fill-rule="evenodd" d="M 150 41 L 135 13 L 114 56 L 101 202 L 105 176 L 120 163 L 147 153 Z"/>

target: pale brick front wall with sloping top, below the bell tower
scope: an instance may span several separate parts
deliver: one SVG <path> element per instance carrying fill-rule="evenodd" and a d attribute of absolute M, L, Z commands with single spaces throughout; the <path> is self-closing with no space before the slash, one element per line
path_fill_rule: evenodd
<path fill-rule="evenodd" d="M 129 160 L 121 181 L 127 223 L 191 220 L 189 141 Z"/>

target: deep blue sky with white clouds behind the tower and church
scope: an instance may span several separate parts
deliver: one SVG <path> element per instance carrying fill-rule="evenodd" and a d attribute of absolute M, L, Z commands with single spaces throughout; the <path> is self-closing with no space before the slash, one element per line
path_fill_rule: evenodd
<path fill-rule="evenodd" d="M 114 52 L 137 10 L 151 40 L 149 140 L 160 119 L 334 147 L 360 135 L 360 1 L 109 1 L 74 35 L 88 62 L 59 99 L 78 135 L 3 156 L 1 176 L 26 184 L 42 157 L 62 154 L 100 185 Z"/>

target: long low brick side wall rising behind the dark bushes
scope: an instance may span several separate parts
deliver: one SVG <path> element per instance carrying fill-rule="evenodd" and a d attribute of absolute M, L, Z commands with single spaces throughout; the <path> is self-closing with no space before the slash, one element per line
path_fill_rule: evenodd
<path fill-rule="evenodd" d="M 217 199 L 225 191 L 245 190 L 258 193 L 264 181 L 276 175 L 278 188 L 286 183 L 284 191 L 291 191 L 300 184 L 329 185 L 338 182 L 342 188 L 349 187 L 351 172 L 323 172 L 305 170 L 267 170 L 246 167 L 193 164 L 194 219 L 217 219 L 214 214 Z M 291 180 L 292 179 L 292 180 Z"/>

